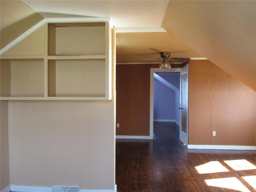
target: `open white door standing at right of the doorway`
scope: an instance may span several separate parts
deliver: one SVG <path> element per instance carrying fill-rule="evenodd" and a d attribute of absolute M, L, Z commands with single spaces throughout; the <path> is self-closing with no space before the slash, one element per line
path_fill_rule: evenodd
<path fill-rule="evenodd" d="M 180 72 L 180 141 L 188 146 L 188 64 Z"/>

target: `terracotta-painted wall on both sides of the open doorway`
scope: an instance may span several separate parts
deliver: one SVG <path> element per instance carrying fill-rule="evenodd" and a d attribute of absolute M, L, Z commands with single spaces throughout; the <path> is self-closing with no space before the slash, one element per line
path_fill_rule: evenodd
<path fill-rule="evenodd" d="M 158 65 L 116 66 L 116 135 L 149 135 L 150 68 Z M 255 101 L 255 91 L 218 66 L 191 60 L 189 144 L 254 146 Z"/>

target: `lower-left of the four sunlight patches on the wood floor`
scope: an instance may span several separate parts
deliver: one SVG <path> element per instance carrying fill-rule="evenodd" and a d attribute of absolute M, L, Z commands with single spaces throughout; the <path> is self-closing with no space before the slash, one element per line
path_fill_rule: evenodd
<path fill-rule="evenodd" d="M 220 179 L 207 179 L 204 180 L 208 186 L 228 188 L 241 192 L 250 192 L 237 178 L 220 178 Z"/>

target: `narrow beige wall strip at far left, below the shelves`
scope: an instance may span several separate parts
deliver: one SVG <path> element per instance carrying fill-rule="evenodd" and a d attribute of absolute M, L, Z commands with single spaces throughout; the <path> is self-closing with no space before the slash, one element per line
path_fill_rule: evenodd
<path fill-rule="evenodd" d="M 0 105 L 0 191 L 2 191 L 10 184 L 8 101 L 1 101 Z"/>

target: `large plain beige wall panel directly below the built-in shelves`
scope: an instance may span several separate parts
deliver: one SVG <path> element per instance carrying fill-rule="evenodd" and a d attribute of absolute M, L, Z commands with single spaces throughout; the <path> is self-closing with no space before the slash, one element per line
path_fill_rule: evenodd
<path fill-rule="evenodd" d="M 12 101 L 14 185 L 114 189 L 114 101 Z"/>

